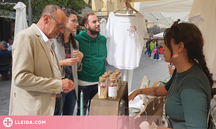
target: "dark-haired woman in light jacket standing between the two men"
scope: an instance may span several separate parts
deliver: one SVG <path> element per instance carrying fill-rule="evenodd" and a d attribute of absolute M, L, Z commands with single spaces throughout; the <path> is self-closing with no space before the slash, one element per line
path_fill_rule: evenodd
<path fill-rule="evenodd" d="M 73 37 L 73 33 L 76 32 L 77 26 L 79 25 L 76 13 L 72 9 L 63 10 L 67 15 L 66 29 L 63 34 L 60 33 L 57 36 L 53 46 L 59 59 L 62 76 L 71 79 L 76 85 L 75 91 L 72 90 L 69 93 L 62 93 L 62 115 L 73 115 L 77 101 L 76 93 L 78 91 L 77 70 L 81 70 L 83 54 L 78 50 L 78 42 Z"/>

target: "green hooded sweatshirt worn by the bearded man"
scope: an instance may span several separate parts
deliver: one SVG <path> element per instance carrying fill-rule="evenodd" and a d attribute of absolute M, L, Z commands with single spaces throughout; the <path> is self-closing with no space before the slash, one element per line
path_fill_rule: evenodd
<path fill-rule="evenodd" d="M 106 37 L 99 33 L 96 38 L 92 38 L 84 30 L 76 35 L 75 38 L 79 42 L 79 50 L 84 55 L 82 70 L 78 72 L 78 79 L 87 82 L 98 82 L 99 77 L 106 72 Z"/>

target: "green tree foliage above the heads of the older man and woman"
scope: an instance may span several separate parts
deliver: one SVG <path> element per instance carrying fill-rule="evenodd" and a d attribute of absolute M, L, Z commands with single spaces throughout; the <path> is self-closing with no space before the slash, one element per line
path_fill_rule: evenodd
<path fill-rule="evenodd" d="M 25 4 L 28 5 L 28 2 L 25 2 Z M 83 0 L 31 0 L 33 22 L 37 22 L 40 19 L 43 8 L 48 4 L 71 8 L 79 14 L 87 6 Z"/>

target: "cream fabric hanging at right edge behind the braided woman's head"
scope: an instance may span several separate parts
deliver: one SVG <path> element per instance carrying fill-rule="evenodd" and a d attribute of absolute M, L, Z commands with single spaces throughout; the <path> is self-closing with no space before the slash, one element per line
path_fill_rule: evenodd
<path fill-rule="evenodd" d="M 207 65 L 216 80 L 216 0 L 194 0 L 189 21 L 196 24 L 202 32 Z"/>

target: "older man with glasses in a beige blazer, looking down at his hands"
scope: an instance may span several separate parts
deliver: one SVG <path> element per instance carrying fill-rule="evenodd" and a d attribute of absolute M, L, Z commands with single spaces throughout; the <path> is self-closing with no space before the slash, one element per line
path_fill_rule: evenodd
<path fill-rule="evenodd" d="M 37 24 L 19 32 L 12 54 L 9 115 L 53 115 L 56 96 L 75 85 L 63 79 L 52 38 L 63 33 L 67 17 L 56 5 L 47 5 Z"/>

